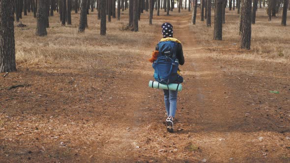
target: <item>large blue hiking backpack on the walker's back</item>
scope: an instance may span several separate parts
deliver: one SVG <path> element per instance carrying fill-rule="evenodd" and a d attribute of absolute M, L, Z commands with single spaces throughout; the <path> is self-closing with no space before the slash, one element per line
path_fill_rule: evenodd
<path fill-rule="evenodd" d="M 178 59 L 176 59 L 177 43 L 175 41 L 162 41 L 158 43 L 158 47 L 157 60 L 152 64 L 155 80 L 163 84 L 179 83 L 177 79 L 179 65 Z"/>

